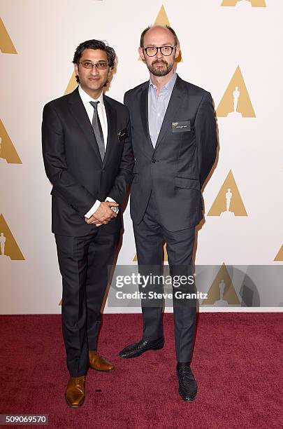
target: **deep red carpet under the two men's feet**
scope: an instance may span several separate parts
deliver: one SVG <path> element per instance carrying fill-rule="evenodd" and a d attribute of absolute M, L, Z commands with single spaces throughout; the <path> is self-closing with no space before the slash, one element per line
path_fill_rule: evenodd
<path fill-rule="evenodd" d="M 89 370 L 85 404 L 70 409 L 61 317 L 0 316 L 0 414 L 49 414 L 50 428 L 283 427 L 282 313 L 201 313 L 191 403 L 177 393 L 172 315 L 164 325 L 163 350 L 122 360 L 119 350 L 140 338 L 141 316 L 104 315 L 99 351 L 116 370 Z"/>

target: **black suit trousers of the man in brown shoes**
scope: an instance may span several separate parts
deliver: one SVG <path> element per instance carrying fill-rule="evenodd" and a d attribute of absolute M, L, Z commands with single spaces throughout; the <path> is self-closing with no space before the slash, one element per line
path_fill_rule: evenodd
<path fill-rule="evenodd" d="M 108 283 L 108 266 L 113 264 L 119 233 L 100 227 L 83 237 L 55 234 L 62 275 L 62 331 L 68 372 L 73 377 L 87 374 L 89 350 L 97 349 L 101 305 Z"/>

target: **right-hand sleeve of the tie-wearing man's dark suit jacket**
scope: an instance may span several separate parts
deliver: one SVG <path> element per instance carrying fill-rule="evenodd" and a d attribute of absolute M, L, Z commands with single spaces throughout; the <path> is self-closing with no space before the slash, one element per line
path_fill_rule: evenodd
<path fill-rule="evenodd" d="M 123 203 L 126 196 L 126 189 L 133 181 L 133 148 L 131 146 L 131 125 L 129 113 L 127 114 L 126 123 L 127 137 L 124 142 L 124 149 L 122 153 L 121 162 L 119 165 L 119 172 L 115 178 L 113 188 L 108 193 L 108 196 L 115 200 L 120 205 Z"/>

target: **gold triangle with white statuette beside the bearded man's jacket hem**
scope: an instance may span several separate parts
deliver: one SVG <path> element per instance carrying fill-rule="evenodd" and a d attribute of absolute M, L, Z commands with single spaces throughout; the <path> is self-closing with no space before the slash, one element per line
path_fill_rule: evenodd
<path fill-rule="evenodd" d="M 247 216 L 245 205 L 231 170 L 208 212 L 208 216 L 220 215 L 222 217 Z"/>

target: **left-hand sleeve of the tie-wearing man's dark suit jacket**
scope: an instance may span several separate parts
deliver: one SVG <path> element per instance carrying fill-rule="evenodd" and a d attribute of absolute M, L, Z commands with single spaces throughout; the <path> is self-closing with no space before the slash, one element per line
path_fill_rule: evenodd
<path fill-rule="evenodd" d="M 53 189 L 80 217 L 85 217 L 96 198 L 68 171 L 64 130 L 57 112 L 49 104 L 43 109 L 42 149 L 45 172 Z"/>

